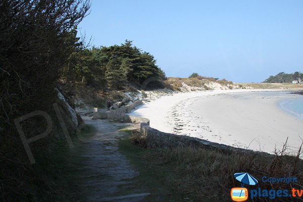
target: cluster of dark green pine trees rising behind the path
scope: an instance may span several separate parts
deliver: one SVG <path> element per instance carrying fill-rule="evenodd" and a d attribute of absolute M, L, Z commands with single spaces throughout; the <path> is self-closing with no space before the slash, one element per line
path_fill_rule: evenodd
<path fill-rule="evenodd" d="M 76 35 L 72 35 L 76 37 Z M 74 38 L 77 41 L 77 38 Z M 121 89 L 128 82 L 142 84 L 149 77 L 166 79 L 165 72 L 156 65 L 150 53 L 126 40 L 121 45 L 101 46 L 91 49 L 75 48 L 64 78 L 67 82 L 78 82 L 97 88 Z"/>

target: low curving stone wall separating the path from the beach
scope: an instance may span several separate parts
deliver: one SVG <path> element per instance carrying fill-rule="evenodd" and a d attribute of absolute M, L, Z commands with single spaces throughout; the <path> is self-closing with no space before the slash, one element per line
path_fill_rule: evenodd
<path fill-rule="evenodd" d="M 123 106 L 117 110 L 110 112 L 94 112 L 93 119 L 113 119 L 123 122 L 137 122 L 140 123 L 140 131 L 142 135 L 146 136 L 147 144 L 149 147 L 175 147 L 175 146 L 209 146 L 215 149 L 225 151 L 247 151 L 247 149 L 235 148 L 225 144 L 219 144 L 216 142 L 199 139 L 196 137 L 190 137 L 186 135 L 175 135 L 171 133 L 161 132 L 155 128 L 149 126 L 149 119 L 143 117 L 135 117 L 126 115 L 130 110 L 135 107 L 142 105 L 142 100 L 136 101 L 135 103 Z"/>

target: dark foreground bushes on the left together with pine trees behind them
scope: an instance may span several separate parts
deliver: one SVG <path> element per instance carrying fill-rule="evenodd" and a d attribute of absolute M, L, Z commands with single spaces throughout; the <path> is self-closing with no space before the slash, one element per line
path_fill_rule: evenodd
<path fill-rule="evenodd" d="M 106 98 L 114 102 L 123 98 L 116 90 L 136 90 L 150 77 L 154 81 L 149 86 L 161 86 L 166 79 L 154 56 L 132 41 L 89 48 L 85 38 L 77 37 L 77 25 L 90 6 L 89 0 L 0 3 L 1 201 L 69 198 L 66 192 L 70 185 L 64 180 L 68 175 L 63 172 L 68 170 L 65 154 L 69 146 L 53 104 L 58 103 L 72 139 L 77 126 L 58 98 L 59 91 L 72 107 L 75 104 L 70 97 L 78 89 L 92 106 L 104 106 Z M 35 156 L 32 165 L 14 120 L 37 110 L 51 117 L 53 128 L 47 137 L 31 143 Z M 81 118 L 77 118 L 80 125 Z M 40 116 L 20 123 L 26 138 L 43 133 L 48 126 Z"/>

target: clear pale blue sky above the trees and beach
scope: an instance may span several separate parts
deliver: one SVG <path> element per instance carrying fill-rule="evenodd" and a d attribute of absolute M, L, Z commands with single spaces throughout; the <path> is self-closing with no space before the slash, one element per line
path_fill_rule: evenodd
<path fill-rule="evenodd" d="M 78 29 L 95 46 L 132 40 L 168 77 L 262 82 L 303 72 L 301 0 L 92 0 Z"/>

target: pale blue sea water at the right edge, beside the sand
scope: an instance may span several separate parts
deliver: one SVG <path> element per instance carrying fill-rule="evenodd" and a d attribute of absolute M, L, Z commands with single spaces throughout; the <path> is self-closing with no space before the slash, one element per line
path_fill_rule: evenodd
<path fill-rule="evenodd" d="M 283 99 L 278 103 L 278 106 L 286 113 L 303 120 L 303 96 Z"/>

